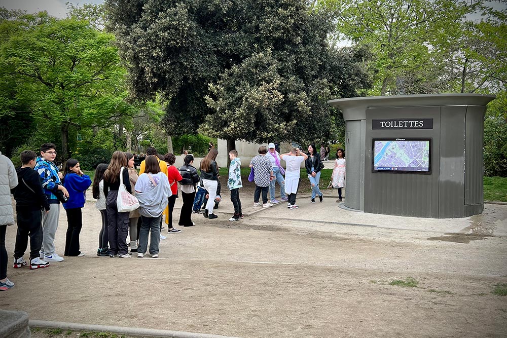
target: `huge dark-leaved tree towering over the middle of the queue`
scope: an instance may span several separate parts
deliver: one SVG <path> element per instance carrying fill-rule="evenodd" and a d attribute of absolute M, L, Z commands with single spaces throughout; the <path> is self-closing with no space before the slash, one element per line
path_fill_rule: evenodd
<path fill-rule="evenodd" d="M 302 0 L 108 0 L 106 7 L 133 93 L 164 95 L 173 135 L 202 126 L 227 139 L 321 139 L 333 115 L 326 101 L 368 86 L 358 64 L 345 66 L 356 70 L 351 78 L 334 81 L 343 55 L 327 41 L 332 22 Z"/>

